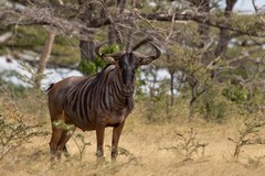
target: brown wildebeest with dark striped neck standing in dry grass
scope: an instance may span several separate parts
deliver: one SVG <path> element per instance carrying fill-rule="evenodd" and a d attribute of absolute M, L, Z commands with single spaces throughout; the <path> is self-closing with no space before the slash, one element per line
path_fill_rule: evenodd
<path fill-rule="evenodd" d="M 118 52 L 102 54 L 100 47 L 95 53 L 105 59 L 107 65 L 95 76 L 70 77 L 47 88 L 49 110 L 52 121 L 50 148 L 53 156 L 61 156 L 66 151 L 65 144 L 71 133 L 57 122 L 80 128 L 83 131 L 96 130 L 98 157 L 104 156 L 104 131 L 113 127 L 112 158 L 118 155 L 118 142 L 125 119 L 134 109 L 135 72 L 141 65 L 157 59 L 160 50 L 148 42 L 156 51 L 152 56 L 138 52 Z"/>

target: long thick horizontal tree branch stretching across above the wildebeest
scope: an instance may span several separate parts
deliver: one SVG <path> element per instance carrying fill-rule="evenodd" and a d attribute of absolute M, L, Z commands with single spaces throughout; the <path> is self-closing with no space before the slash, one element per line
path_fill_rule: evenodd
<path fill-rule="evenodd" d="M 222 28 L 230 31 L 234 31 L 240 34 L 251 35 L 251 36 L 265 36 L 264 33 L 261 31 L 265 30 L 265 26 L 262 24 L 261 30 L 244 30 L 235 24 L 231 24 L 225 18 L 219 18 L 216 14 L 211 12 L 176 12 L 172 14 L 163 14 L 163 13 L 140 13 L 136 10 L 126 11 L 123 15 L 119 14 L 110 14 L 110 12 L 106 9 L 106 7 L 100 3 L 104 8 L 105 13 L 107 14 L 106 19 L 103 19 L 100 23 L 96 24 L 94 28 L 99 28 L 107 24 L 116 24 L 116 30 L 119 31 L 118 25 L 120 25 L 120 21 L 128 19 L 131 15 L 137 16 L 140 20 L 146 21 L 152 29 L 156 31 L 160 31 L 161 33 L 166 34 L 163 29 L 153 25 L 152 21 L 195 21 L 201 24 Z M 55 9 L 52 7 L 49 8 L 25 8 L 23 10 L 2 10 L 0 12 L 0 26 L 8 26 L 8 25 L 32 25 L 32 24 L 40 24 L 40 25 L 52 25 L 56 28 L 59 31 L 65 34 L 74 34 L 78 35 L 81 29 L 87 31 L 94 31 L 93 28 L 87 28 L 85 24 L 82 24 L 76 21 L 65 20 L 55 15 Z M 174 16 L 174 18 L 173 18 Z M 263 30 L 264 29 L 264 30 Z M 85 36 L 80 36 L 85 37 Z"/>

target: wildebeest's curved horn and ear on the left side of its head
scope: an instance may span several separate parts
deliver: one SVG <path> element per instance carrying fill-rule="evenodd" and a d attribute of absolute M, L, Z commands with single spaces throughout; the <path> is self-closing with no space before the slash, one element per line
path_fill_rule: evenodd
<path fill-rule="evenodd" d="M 98 57 L 102 57 L 105 62 L 109 64 L 116 64 L 117 59 L 125 54 L 125 52 L 118 52 L 118 53 L 112 53 L 112 54 L 102 54 L 100 53 L 100 47 L 106 44 L 108 41 L 103 42 L 98 44 L 95 48 L 95 53 L 97 54 Z"/>

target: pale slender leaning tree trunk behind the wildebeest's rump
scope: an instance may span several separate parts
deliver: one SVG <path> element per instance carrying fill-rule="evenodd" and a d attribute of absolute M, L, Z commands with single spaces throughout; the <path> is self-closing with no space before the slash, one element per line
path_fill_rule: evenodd
<path fill-rule="evenodd" d="M 49 37 L 46 40 L 43 52 L 41 54 L 40 63 L 39 63 L 38 70 L 36 70 L 36 75 L 34 77 L 34 86 L 38 89 L 40 89 L 40 87 L 41 87 L 41 80 L 42 80 L 42 77 L 43 77 L 44 69 L 46 67 L 46 62 L 47 62 L 47 59 L 51 55 L 51 52 L 52 52 L 54 37 L 55 37 L 55 33 L 49 32 Z"/>

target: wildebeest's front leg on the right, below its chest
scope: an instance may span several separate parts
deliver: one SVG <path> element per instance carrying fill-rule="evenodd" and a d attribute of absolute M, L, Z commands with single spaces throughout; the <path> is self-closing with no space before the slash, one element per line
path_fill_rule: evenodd
<path fill-rule="evenodd" d="M 112 142 L 112 158 L 115 160 L 118 155 L 118 142 L 119 136 L 121 134 L 121 131 L 124 129 L 125 122 L 119 123 L 117 127 L 113 130 L 113 142 Z"/>

